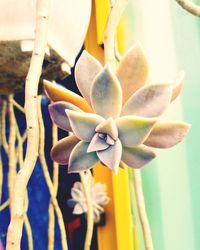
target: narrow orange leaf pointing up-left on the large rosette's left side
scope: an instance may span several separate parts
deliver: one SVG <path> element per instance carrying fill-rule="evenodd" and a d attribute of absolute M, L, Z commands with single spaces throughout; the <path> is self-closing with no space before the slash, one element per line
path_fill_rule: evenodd
<path fill-rule="evenodd" d="M 89 106 L 89 104 L 81 96 L 62 87 L 59 84 L 52 83 L 47 80 L 44 80 L 43 83 L 44 83 L 44 89 L 46 91 L 47 96 L 53 102 L 57 102 L 57 101 L 69 102 L 86 112 L 92 112 L 92 109 Z"/>

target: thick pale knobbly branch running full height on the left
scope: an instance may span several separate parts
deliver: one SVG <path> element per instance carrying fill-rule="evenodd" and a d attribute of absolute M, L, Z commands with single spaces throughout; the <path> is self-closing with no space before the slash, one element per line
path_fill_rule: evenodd
<path fill-rule="evenodd" d="M 39 146 L 37 92 L 47 44 L 50 0 L 37 0 L 34 50 L 25 84 L 25 114 L 27 122 L 27 150 L 23 168 L 19 171 L 11 201 L 11 222 L 7 233 L 7 250 L 20 250 L 24 220 L 26 187 L 33 172 Z"/>

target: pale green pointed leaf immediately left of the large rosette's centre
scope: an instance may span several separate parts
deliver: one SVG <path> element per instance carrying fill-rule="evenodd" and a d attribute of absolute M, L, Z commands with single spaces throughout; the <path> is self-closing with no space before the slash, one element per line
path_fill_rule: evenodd
<path fill-rule="evenodd" d="M 104 121 L 96 114 L 76 112 L 66 109 L 66 114 L 74 134 L 83 141 L 90 142 L 95 134 L 95 128 Z"/>

